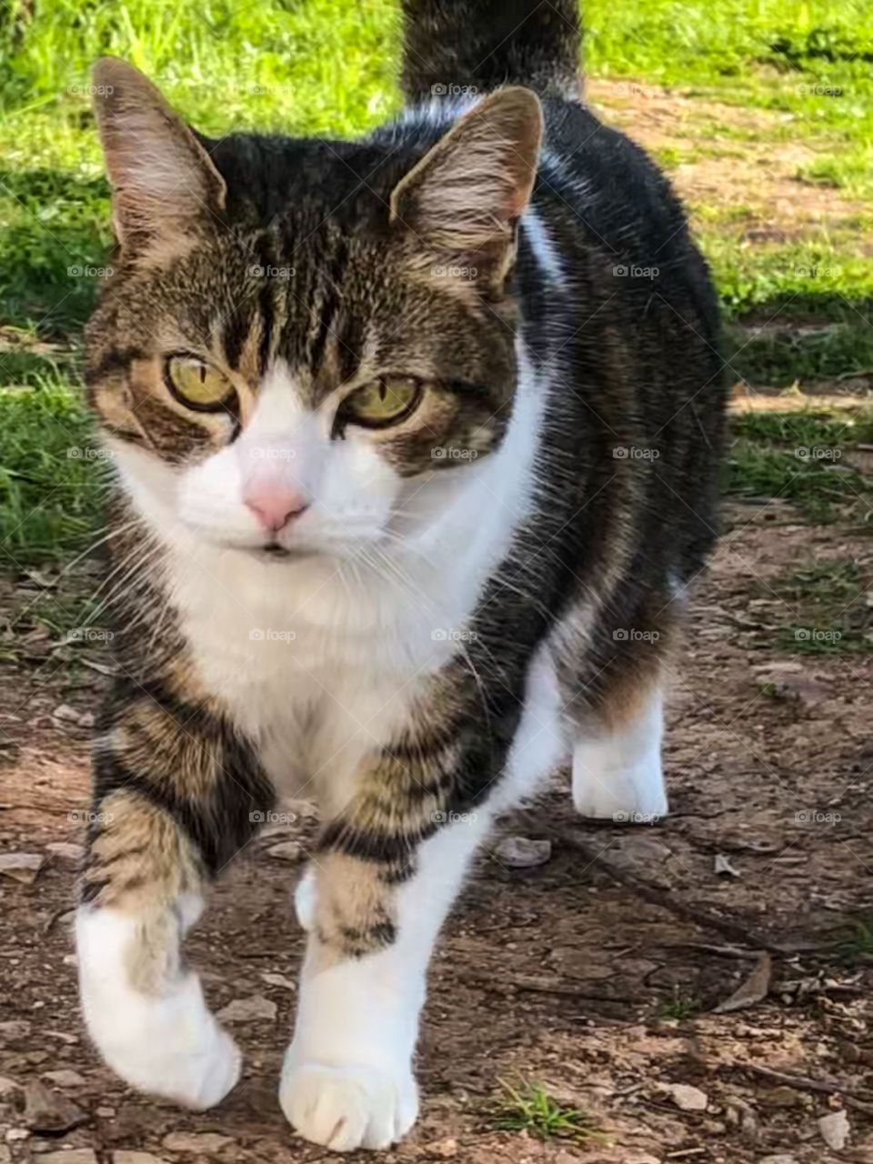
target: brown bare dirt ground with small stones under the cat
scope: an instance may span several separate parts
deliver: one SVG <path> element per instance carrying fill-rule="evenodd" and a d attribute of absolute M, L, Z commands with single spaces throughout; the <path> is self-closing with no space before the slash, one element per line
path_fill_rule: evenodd
<path fill-rule="evenodd" d="M 585 823 L 563 773 L 503 822 L 502 835 L 549 839 L 551 859 L 510 868 L 499 835 L 483 851 L 432 966 L 421 1117 L 383 1158 L 873 1164 L 873 656 L 797 654 L 795 627 L 828 627 L 783 585 L 851 559 L 873 589 L 873 542 L 779 503 L 730 504 L 724 526 L 673 676 L 672 815 Z M 38 865 L 0 873 L 0 1164 L 333 1158 L 292 1134 L 276 1100 L 303 932 L 299 866 L 275 850 L 305 850 L 317 822 L 304 814 L 240 854 L 189 944 L 214 1009 L 255 999 L 263 1015 L 232 1024 L 246 1069 L 220 1108 L 136 1095 L 88 1045 L 70 814 L 87 808 L 90 717 L 111 660 L 95 641 L 59 646 L 23 613 L 54 582 L 0 580 L 0 852 Z M 737 991 L 743 1005 L 719 1012 Z M 542 1084 L 599 1130 L 496 1130 L 501 1080 Z M 34 1083 L 51 1096 L 42 1113 Z"/>

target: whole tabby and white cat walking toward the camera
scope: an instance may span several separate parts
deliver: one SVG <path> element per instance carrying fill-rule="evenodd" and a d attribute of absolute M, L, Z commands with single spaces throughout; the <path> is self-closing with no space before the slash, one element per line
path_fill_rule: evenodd
<path fill-rule="evenodd" d="M 666 811 L 724 403 L 704 263 L 581 104 L 574 0 L 405 8 L 407 105 L 363 141 L 211 141 L 94 77 L 120 255 L 87 384 L 127 581 L 84 1012 L 134 1086 L 218 1103 L 240 1052 L 182 943 L 276 797 L 315 799 L 279 1101 L 340 1150 L 416 1119 L 428 958 L 495 812 L 566 761 L 580 812 Z"/>

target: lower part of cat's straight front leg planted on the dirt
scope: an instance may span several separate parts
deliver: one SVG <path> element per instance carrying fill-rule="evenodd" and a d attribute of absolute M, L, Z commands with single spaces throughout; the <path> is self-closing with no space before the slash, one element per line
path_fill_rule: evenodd
<path fill-rule="evenodd" d="M 388 1148 L 418 1113 L 412 1056 L 427 964 L 487 828 L 484 810 L 454 823 L 434 815 L 439 830 L 418 846 L 395 838 L 379 851 L 372 838 L 360 857 L 328 842 L 313 863 L 279 1101 L 301 1136 L 335 1151 Z M 349 833 L 336 839 L 356 847 Z"/>

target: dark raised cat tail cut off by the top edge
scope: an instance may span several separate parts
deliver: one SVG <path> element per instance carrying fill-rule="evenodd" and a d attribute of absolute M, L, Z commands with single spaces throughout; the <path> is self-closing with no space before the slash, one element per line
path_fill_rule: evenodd
<path fill-rule="evenodd" d="M 407 101 L 526 85 L 581 95 L 579 0 L 403 0 Z"/>

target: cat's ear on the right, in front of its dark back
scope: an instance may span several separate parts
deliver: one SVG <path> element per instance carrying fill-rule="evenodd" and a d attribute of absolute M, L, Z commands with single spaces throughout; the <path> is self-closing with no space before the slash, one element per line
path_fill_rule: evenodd
<path fill-rule="evenodd" d="M 516 85 L 497 90 L 400 179 L 391 220 L 407 232 L 419 267 L 473 271 L 468 277 L 481 290 L 503 291 L 541 139 L 537 94 Z"/>

